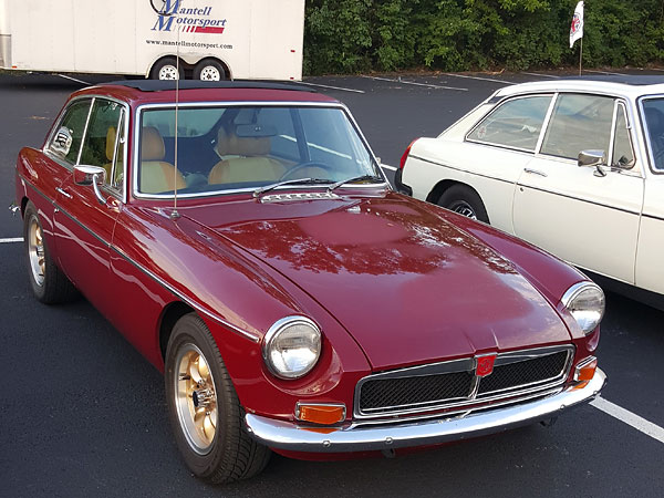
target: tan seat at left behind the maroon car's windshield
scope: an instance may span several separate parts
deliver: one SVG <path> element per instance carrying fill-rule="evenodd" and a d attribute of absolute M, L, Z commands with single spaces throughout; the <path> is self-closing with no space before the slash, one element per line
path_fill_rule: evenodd
<path fill-rule="evenodd" d="M 164 138 L 154 126 L 145 126 L 141 138 L 141 191 L 158 194 L 185 188 L 187 183 L 175 166 L 164 160 Z"/>

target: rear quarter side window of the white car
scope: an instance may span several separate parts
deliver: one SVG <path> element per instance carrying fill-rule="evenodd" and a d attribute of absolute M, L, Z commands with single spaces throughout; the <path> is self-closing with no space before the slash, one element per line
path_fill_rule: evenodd
<path fill-rule="evenodd" d="M 500 104 L 467 135 L 468 141 L 535 151 L 551 95 L 513 98 Z"/>

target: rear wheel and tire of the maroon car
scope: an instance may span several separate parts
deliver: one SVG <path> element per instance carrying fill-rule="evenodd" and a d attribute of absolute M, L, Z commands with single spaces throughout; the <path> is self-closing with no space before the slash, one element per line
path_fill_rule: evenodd
<path fill-rule="evenodd" d="M 30 287 L 39 301 L 55 304 L 72 301 L 79 295 L 76 288 L 51 258 L 37 208 L 30 201 L 23 214 L 23 247 Z"/>

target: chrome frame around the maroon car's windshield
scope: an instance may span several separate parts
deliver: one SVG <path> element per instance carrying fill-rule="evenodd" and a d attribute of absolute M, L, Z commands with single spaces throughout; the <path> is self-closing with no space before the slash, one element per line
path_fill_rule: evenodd
<path fill-rule="evenodd" d="M 360 139 L 366 147 L 371 159 L 374 162 L 375 167 L 378 170 L 378 174 L 383 178 L 383 181 L 380 184 L 362 184 L 362 185 L 349 185 L 347 188 L 373 188 L 381 187 L 392 189 L 387 177 L 385 176 L 385 172 L 381 167 L 381 163 L 377 160 L 373 149 L 369 145 L 362 129 L 357 125 L 357 122 L 351 114 L 350 110 L 342 103 L 335 102 L 297 102 L 297 101 L 203 101 L 203 102 L 179 102 L 177 104 L 178 108 L 187 108 L 187 107 L 242 107 L 242 106 L 260 106 L 260 107 L 328 107 L 328 108 L 339 108 L 341 110 L 345 116 L 349 118 L 349 122 L 357 133 Z M 167 103 L 146 103 L 141 104 L 136 107 L 136 115 L 134 120 L 134 144 L 133 144 L 133 153 L 134 157 L 132 159 L 132 196 L 136 199 L 142 200 L 173 200 L 174 195 L 170 194 L 144 194 L 138 190 L 138 157 L 141 155 L 141 127 L 143 122 L 143 113 L 145 111 L 151 111 L 155 108 L 175 108 L 175 102 Z M 325 188 L 326 185 L 315 185 L 315 188 Z M 288 185 L 284 187 L 278 187 L 278 189 L 289 188 L 289 189 L 311 189 L 311 185 L 302 185 L 302 186 L 293 186 Z M 344 188 L 346 188 L 344 186 Z M 178 199 L 191 199 L 191 198 L 206 198 L 214 196 L 227 196 L 234 194 L 252 194 L 256 188 L 247 187 L 247 188 L 232 188 L 225 190 L 212 190 L 212 191 L 203 191 L 203 193 L 190 193 L 190 194 L 177 194 Z"/>

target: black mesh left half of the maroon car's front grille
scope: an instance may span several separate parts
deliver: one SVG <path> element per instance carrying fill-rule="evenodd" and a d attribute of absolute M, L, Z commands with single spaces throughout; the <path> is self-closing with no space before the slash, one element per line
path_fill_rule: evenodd
<path fill-rule="evenodd" d="M 473 387 L 469 372 L 369 381 L 360 391 L 360 409 L 388 412 L 403 406 L 466 398 Z"/>

